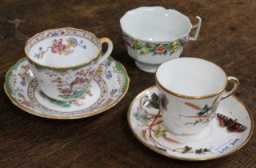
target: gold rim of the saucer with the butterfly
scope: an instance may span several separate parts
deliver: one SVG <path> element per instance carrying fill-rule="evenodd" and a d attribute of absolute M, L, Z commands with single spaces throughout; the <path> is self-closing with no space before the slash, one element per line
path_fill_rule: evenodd
<path fill-rule="evenodd" d="M 140 138 L 135 132 L 134 132 L 134 129 L 132 128 L 131 124 L 130 124 L 130 110 L 131 110 L 131 106 L 133 106 L 134 102 L 142 95 L 144 94 L 146 91 L 149 91 L 151 89 L 153 89 L 154 87 L 156 86 L 151 86 L 150 88 L 147 88 L 146 90 L 143 90 L 140 94 L 138 94 L 134 99 L 133 101 L 130 103 L 130 106 L 129 106 L 129 109 L 128 109 L 128 113 L 127 113 L 127 120 L 128 120 L 128 124 L 129 124 L 129 127 L 130 127 L 130 130 L 131 132 L 134 134 L 135 138 L 138 139 L 139 142 L 142 142 L 142 144 L 148 148 L 150 148 L 150 150 L 154 150 L 154 152 L 157 152 L 158 154 L 162 154 L 166 157 L 169 157 L 169 158 L 175 158 L 175 159 L 178 159 L 178 160 L 184 160 L 184 161 L 206 161 L 206 160 L 212 160 L 212 159 L 216 159 L 216 158 L 222 158 L 222 157 L 226 157 L 230 154 L 233 154 L 234 152 L 240 150 L 243 146 L 246 145 L 246 143 L 250 140 L 252 134 L 253 134 L 253 131 L 254 131 L 254 120 L 253 120 L 253 116 L 249 110 L 249 108 L 246 106 L 246 104 L 244 102 L 242 102 L 241 99 L 239 99 L 238 97 L 236 97 L 235 95 L 232 95 L 236 100 L 238 100 L 238 102 L 241 102 L 242 103 L 242 106 L 245 107 L 247 113 L 249 114 L 250 116 L 250 133 L 249 135 L 247 136 L 246 140 L 242 143 L 242 145 L 238 146 L 238 148 L 236 148 L 235 150 L 232 150 L 226 154 L 222 154 L 222 155 L 219 155 L 219 156 L 216 156 L 216 157 L 210 157 L 210 158 L 186 158 L 186 157 L 177 157 L 177 156 L 174 156 L 174 155 L 171 155 L 171 154 L 166 154 L 164 153 L 162 150 L 157 150 L 155 149 L 154 147 L 148 145 L 148 143 L 144 142 L 142 140 L 142 138 Z"/>

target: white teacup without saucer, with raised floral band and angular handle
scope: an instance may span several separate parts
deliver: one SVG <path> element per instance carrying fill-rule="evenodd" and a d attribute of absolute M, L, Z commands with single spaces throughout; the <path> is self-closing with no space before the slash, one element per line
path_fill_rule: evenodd
<path fill-rule="evenodd" d="M 159 6 L 126 12 L 120 24 L 128 54 L 138 68 L 154 73 L 161 63 L 178 58 L 184 43 L 197 40 L 202 20 L 196 18 L 198 24 L 192 26 L 186 15 Z"/>

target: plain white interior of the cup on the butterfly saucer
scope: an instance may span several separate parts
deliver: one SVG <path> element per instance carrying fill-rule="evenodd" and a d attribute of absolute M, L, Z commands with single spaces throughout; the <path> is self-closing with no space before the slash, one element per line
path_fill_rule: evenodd
<path fill-rule="evenodd" d="M 156 80 L 172 93 L 200 97 L 216 94 L 226 86 L 226 73 L 200 58 L 174 58 L 162 63 Z"/>

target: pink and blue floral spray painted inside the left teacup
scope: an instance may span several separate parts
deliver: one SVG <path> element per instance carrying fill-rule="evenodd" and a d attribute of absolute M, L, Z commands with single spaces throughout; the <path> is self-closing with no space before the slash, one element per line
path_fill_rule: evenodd
<path fill-rule="evenodd" d="M 53 34 L 54 35 L 54 34 Z M 38 48 L 38 53 L 34 54 L 34 58 L 37 59 L 42 59 L 44 57 L 44 54 L 50 49 L 52 53 L 54 54 L 59 54 L 59 55 L 69 55 L 71 54 L 74 50 L 72 48 L 75 48 L 77 46 L 81 46 L 83 49 L 86 50 L 86 45 L 83 45 L 83 41 L 80 40 L 79 43 L 76 38 L 67 38 L 66 39 L 66 45 L 62 44 L 62 38 L 54 39 L 52 41 L 52 45 L 48 46 L 46 50 L 42 50 L 42 47 L 40 46 Z"/>

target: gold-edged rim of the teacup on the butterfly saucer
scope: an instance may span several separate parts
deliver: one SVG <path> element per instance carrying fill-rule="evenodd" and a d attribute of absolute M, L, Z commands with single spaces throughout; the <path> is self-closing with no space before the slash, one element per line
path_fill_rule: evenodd
<path fill-rule="evenodd" d="M 189 58 L 189 57 L 183 57 L 183 58 Z M 180 58 L 173 58 L 173 59 L 170 59 L 170 60 L 168 60 L 166 62 L 170 62 L 170 61 L 172 61 L 174 59 L 180 59 Z M 202 58 L 194 58 L 194 59 L 201 59 L 203 61 L 210 62 L 210 61 L 207 61 L 207 60 L 202 59 Z M 164 64 L 166 62 L 163 62 L 162 64 Z M 214 62 L 210 62 L 210 63 L 213 63 L 215 66 L 218 66 Z M 162 64 L 160 66 L 162 66 Z M 176 92 L 174 92 L 172 90 L 167 89 L 165 86 L 162 86 L 161 82 L 158 81 L 157 72 L 158 72 L 158 69 L 159 69 L 160 66 L 158 66 L 157 70 L 154 73 L 154 80 L 156 82 L 156 85 L 159 86 L 162 90 L 166 91 L 168 94 L 173 94 L 174 96 L 177 96 L 177 97 L 180 97 L 180 98 L 190 98 L 190 99 L 211 98 L 211 97 L 214 97 L 215 95 L 218 95 L 218 94 L 222 93 L 222 91 L 226 89 L 226 86 L 227 86 L 227 83 L 228 83 L 226 72 L 224 70 L 222 70 L 222 68 L 220 66 L 218 66 L 218 68 L 220 68 L 223 71 L 223 73 L 226 75 L 226 82 L 225 82 L 224 86 L 222 86 L 222 88 L 220 90 L 218 90 L 218 91 L 216 91 L 216 92 L 214 92 L 212 94 L 206 94 L 206 95 L 202 95 L 202 96 L 188 96 L 188 95 L 185 95 L 185 94 L 178 94 L 178 93 L 176 93 Z"/>

